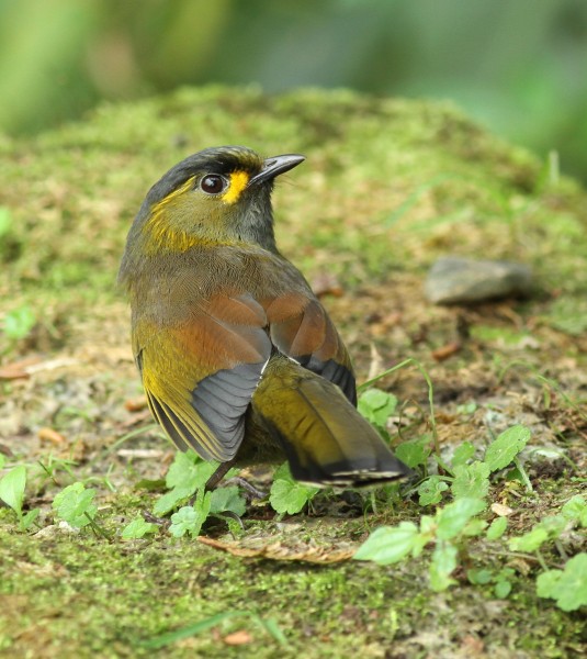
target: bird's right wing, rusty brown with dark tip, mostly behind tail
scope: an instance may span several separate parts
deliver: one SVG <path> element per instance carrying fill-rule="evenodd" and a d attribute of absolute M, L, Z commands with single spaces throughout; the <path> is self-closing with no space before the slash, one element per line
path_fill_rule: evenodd
<path fill-rule="evenodd" d="M 349 401 L 357 404 L 349 354 L 318 300 L 292 292 L 276 297 L 266 310 L 271 340 L 278 349 L 340 387 Z"/>

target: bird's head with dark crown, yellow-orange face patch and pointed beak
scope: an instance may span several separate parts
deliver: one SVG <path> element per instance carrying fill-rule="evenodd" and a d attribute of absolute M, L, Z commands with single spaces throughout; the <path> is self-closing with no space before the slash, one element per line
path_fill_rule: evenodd
<path fill-rule="evenodd" d="M 274 250 L 273 180 L 303 160 L 300 155 L 263 159 L 242 146 L 201 150 L 153 186 L 134 228 L 153 254 L 242 243 Z"/>

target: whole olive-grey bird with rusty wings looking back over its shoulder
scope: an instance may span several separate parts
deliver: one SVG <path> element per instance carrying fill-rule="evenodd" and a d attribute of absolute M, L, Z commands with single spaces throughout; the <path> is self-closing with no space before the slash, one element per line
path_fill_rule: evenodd
<path fill-rule="evenodd" d="M 120 281 L 153 415 L 180 448 L 234 463 L 285 456 L 330 485 L 408 473 L 357 412 L 347 349 L 307 281 L 278 250 L 274 178 L 304 156 L 207 148 L 148 192 Z"/>

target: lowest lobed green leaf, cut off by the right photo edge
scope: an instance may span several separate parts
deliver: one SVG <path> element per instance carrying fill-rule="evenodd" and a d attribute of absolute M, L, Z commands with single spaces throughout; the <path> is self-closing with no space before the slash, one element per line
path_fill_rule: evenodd
<path fill-rule="evenodd" d="M 563 611 L 587 605 L 587 554 L 577 554 L 564 570 L 548 570 L 537 579 L 539 597 L 552 597 Z"/>

